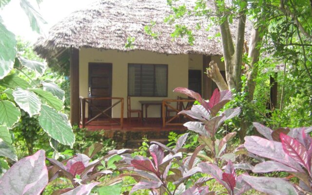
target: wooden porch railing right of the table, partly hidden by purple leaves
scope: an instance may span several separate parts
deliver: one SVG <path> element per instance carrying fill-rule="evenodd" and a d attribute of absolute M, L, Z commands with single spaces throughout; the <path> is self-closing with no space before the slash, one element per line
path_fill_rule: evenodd
<path fill-rule="evenodd" d="M 193 102 L 195 100 L 192 99 L 164 99 L 162 100 L 162 126 L 165 127 L 166 125 L 183 125 L 182 119 L 184 117 L 188 118 L 189 120 L 193 121 L 194 119 L 192 117 L 189 117 L 187 115 L 179 115 L 178 113 L 182 110 L 190 110 L 193 106 Z M 173 105 L 177 106 L 174 107 Z M 184 104 L 186 102 L 186 105 Z M 176 115 L 173 117 L 168 118 L 169 116 L 166 116 L 166 109 L 172 109 L 176 111 Z M 168 118 L 168 120 L 167 120 Z M 177 122 L 174 122 L 177 121 Z"/>

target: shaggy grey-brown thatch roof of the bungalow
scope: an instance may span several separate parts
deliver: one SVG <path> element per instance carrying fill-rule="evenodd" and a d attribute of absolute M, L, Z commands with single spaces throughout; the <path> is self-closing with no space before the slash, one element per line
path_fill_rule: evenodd
<path fill-rule="evenodd" d="M 194 0 L 180 0 L 186 6 L 194 6 Z M 208 6 L 212 6 L 213 4 Z M 89 47 L 114 49 L 119 51 L 147 50 L 164 54 L 205 54 L 222 55 L 220 38 L 208 39 L 219 32 L 217 26 L 209 31 L 205 28 L 210 23 L 206 18 L 199 20 L 190 16 L 181 20 L 194 30 L 194 45 L 187 37 L 172 40 L 174 24 L 164 23 L 164 18 L 173 14 L 166 0 L 98 0 L 90 6 L 73 12 L 50 29 L 47 38 L 40 38 L 35 44 L 35 51 L 43 58 L 59 56 L 66 48 Z M 158 39 L 144 31 L 144 26 L 155 21 L 153 31 L 160 32 Z M 176 21 L 181 23 L 181 21 Z M 235 31 L 233 25 L 232 32 Z M 133 48 L 125 48 L 127 38 L 134 37 Z M 246 37 L 249 37 L 247 33 Z"/>

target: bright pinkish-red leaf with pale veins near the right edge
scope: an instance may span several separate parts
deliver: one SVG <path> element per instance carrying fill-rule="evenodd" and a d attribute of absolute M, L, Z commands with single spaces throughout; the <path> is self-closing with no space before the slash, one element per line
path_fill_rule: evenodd
<path fill-rule="evenodd" d="M 283 133 L 280 135 L 284 152 L 291 156 L 298 163 L 303 165 L 309 172 L 311 168 L 311 162 L 309 161 L 309 155 L 306 148 L 296 139 L 289 137 Z"/>

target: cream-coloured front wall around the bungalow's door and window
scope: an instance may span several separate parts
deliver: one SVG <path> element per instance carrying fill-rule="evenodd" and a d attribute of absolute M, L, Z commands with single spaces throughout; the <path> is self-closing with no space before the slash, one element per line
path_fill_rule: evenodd
<path fill-rule="evenodd" d="M 188 55 L 166 55 L 148 51 L 101 51 L 82 48 L 79 51 L 79 96 L 82 97 L 88 97 L 89 62 L 113 64 L 112 96 L 124 98 L 124 117 L 127 117 L 128 63 L 168 64 L 168 97 L 132 97 L 132 109 L 141 109 L 139 100 L 176 99 L 179 94 L 174 93 L 173 90 L 176 87 L 188 87 Z M 87 110 L 86 113 L 88 113 Z M 113 108 L 112 116 L 120 117 L 120 104 Z M 160 106 L 150 106 L 148 108 L 148 117 L 160 117 Z"/>

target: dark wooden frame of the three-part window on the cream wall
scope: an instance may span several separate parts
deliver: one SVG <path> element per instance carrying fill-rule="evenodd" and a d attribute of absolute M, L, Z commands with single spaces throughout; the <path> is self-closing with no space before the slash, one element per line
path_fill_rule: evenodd
<path fill-rule="evenodd" d="M 143 96 L 142 95 L 142 79 L 140 80 L 140 95 L 137 96 L 137 95 L 129 95 L 129 67 L 133 65 L 133 66 L 140 66 L 140 77 L 142 78 L 142 66 L 144 65 L 152 65 L 154 67 L 154 85 L 153 85 L 153 95 L 152 96 Z M 166 94 L 165 96 L 156 96 L 155 95 L 155 91 L 156 91 L 156 66 L 164 66 L 166 67 Z M 127 78 L 127 96 L 129 97 L 168 97 L 168 64 L 147 64 L 147 63 L 128 63 L 128 78 Z"/>

